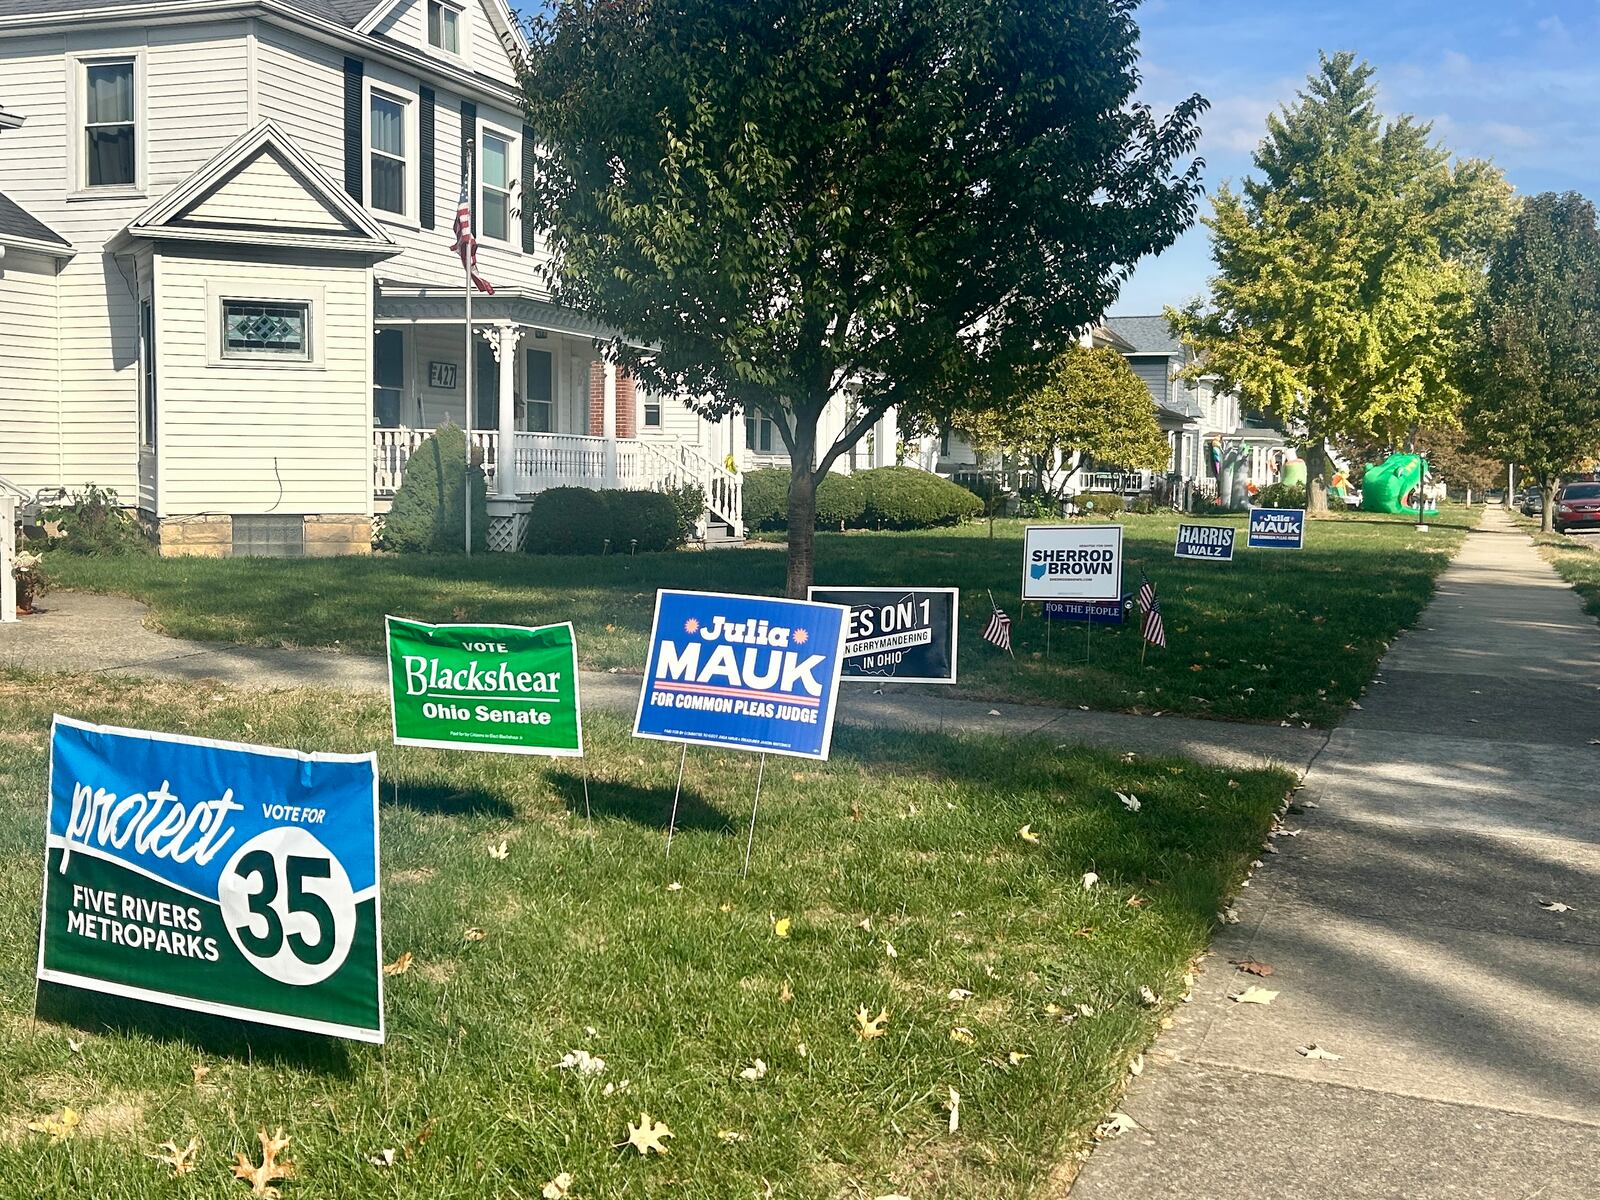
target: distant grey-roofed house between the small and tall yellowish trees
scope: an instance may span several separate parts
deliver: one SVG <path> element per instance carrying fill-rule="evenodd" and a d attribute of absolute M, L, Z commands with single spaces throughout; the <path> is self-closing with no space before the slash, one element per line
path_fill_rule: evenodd
<path fill-rule="evenodd" d="M 1157 421 L 1173 448 L 1170 477 L 1211 491 L 1213 454 L 1226 454 L 1237 458 L 1258 486 L 1277 478 L 1283 435 L 1245 421 L 1238 395 L 1221 390 L 1213 378 L 1178 378 L 1194 363 L 1194 352 L 1173 334 L 1166 317 L 1107 317 L 1106 328 L 1117 334 L 1128 365 L 1150 389 Z"/>

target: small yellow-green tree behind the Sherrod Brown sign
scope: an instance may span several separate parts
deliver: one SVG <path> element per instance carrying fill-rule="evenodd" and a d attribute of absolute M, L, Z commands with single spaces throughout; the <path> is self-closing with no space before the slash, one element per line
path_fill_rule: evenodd
<path fill-rule="evenodd" d="M 1134 470 L 1160 470 L 1171 458 L 1150 389 L 1104 346 L 1074 346 L 1027 395 L 1003 408 L 957 411 L 949 426 L 979 451 L 1026 459 L 1054 496 L 1072 480 L 1074 451 L 1080 462 Z"/>

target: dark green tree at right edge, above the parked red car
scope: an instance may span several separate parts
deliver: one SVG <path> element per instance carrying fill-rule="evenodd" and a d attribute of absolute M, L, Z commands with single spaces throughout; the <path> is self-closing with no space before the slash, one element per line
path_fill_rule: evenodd
<path fill-rule="evenodd" d="M 1490 264 L 1474 322 L 1472 442 L 1520 462 L 1544 491 L 1600 453 L 1600 232 L 1566 192 L 1523 200 Z"/>

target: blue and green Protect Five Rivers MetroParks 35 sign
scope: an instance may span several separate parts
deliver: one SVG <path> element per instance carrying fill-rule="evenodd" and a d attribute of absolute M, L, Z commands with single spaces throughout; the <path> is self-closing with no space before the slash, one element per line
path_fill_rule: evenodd
<path fill-rule="evenodd" d="M 382 1043 L 378 757 L 56 717 L 38 978 Z"/>

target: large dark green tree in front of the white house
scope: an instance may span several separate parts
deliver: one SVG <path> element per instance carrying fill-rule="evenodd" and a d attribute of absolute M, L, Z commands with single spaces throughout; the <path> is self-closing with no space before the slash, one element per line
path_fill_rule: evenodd
<path fill-rule="evenodd" d="M 534 22 L 550 290 L 646 384 L 773 419 L 790 595 L 818 480 L 890 406 L 1003 403 L 1194 219 L 1205 102 L 1133 102 L 1134 8 L 560 0 Z"/>

